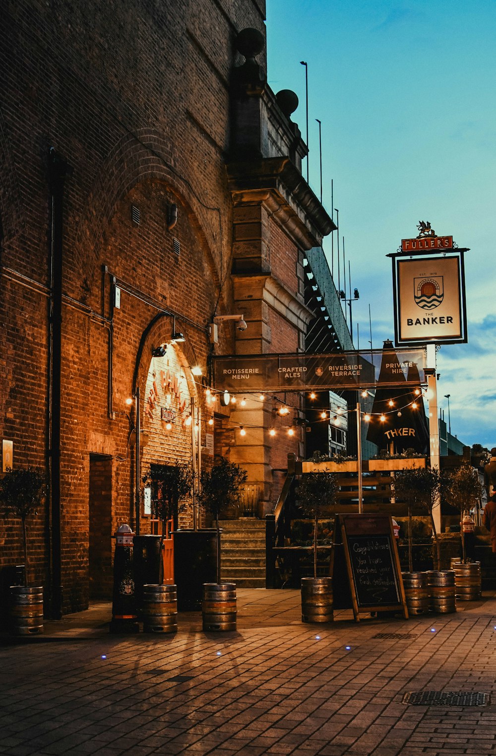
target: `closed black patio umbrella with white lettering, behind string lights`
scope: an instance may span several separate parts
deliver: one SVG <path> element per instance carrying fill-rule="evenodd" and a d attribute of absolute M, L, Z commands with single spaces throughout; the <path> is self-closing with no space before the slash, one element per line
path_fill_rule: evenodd
<path fill-rule="evenodd" d="M 391 375 L 392 365 L 393 373 L 399 375 L 402 367 L 393 350 L 393 343 L 385 341 L 379 383 Z M 411 382 L 417 381 L 417 387 L 420 386 L 417 365 L 408 367 L 404 381 L 404 386 L 399 381 L 393 389 L 376 389 L 367 438 L 379 449 L 386 449 L 393 454 L 400 454 L 406 449 L 426 454 L 429 448 L 429 429 L 424 400 L 421 394 L 415 393 L 415 386 L 411 386 Z M 384 417 L 384 420 L 380 420 L 380 417 Z"/>

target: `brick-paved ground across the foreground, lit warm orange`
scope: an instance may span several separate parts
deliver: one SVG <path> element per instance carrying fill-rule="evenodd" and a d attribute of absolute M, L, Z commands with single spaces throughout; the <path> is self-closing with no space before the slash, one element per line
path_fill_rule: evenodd
<path fill-rule="evenodd" d="M 203 633 L 188 612 L 173 636 L 110 635 L 105 604 L 45 622 L 42 638 L 4 638 L 0 753 L 496 753 L 494 592 L 408 621 L 348 611 L 302 624 L 294 590 L 239 589 L 238 609 L 229 633 Z M 494 703 L 402 703 L 420 690 Z"/>

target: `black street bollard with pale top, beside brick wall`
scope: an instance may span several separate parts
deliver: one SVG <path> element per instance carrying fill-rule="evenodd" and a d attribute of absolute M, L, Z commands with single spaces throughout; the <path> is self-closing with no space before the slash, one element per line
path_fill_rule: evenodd
<path fill-rule="evenodd" d="M 134 596 L 133 536 L 129 525 L 120 525 L 114 554 L 114 589 L 112 595 L 111 633 L 139 633 Z"/>

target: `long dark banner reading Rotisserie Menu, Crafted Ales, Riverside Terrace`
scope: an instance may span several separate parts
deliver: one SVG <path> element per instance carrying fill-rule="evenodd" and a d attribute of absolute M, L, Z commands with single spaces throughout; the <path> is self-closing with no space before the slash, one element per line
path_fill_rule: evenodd
<path fill-rule="evenodd" d="M 332 355 L 230 355 L 213 358 L 214 385 L 232 393 L 418 386 L 425 383 L 424 360 L 423 349 L 373 349 Z"/>

